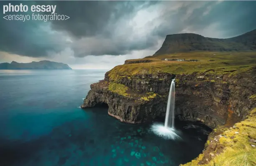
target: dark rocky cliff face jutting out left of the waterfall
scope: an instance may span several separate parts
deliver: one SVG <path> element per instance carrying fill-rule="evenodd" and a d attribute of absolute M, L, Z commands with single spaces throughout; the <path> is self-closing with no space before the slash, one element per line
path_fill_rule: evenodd
<path fill-rule="evenodd" d="M 150 94 L 132 91 L 130 88 L 129 96 L 123 96 L 112 92 L 108 86 L 109 82 L 105 80 L 92 84 L 81 107 L 108 104 L 108 114 L 125 123 L 143 123 L 165 115 L 166 105 L 160 96 L 147 100 L 146 97 L 151 97 Z"/>

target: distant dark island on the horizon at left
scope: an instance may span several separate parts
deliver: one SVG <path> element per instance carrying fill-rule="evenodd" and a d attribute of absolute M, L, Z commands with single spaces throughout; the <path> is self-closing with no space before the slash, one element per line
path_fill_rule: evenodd
<path fill-rule="evenodd" d="M 69 69 L 72 70 L 69 65 L 58 63 L 54 61 L 32 61 L 31 63 L 18 63 L 12 61 L 11 63 L 1 63 L 0 70 L 36 70 L 36 69 Z"/>

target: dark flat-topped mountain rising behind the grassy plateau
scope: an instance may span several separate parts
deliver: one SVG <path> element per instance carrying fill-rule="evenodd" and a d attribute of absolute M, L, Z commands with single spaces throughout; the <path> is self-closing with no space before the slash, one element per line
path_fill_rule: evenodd
<path fill-rule="evenodd" d="M 256 51 L 256 29 L 233 38 L 207 38 L 195 33 L 167 35 L 161 48 L 153 56 L 189 51 Z"/>

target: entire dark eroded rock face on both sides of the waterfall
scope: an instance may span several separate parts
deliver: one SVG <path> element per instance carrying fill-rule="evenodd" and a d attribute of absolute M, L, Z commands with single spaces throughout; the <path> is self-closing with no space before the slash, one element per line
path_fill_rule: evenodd
<path fill-rule="evenodd" d="M 98 103 L 108 104 L 108 114 L 125 123 L 142 123 L 164 117 L 169 87 L 175 76 L 168 73 L 144 74 L 123 77 L 117 83 L 128 87 L 130 96 L 123 96 L 108 89 L 111 79 L 92 84 L 84 107 Z M 175 114 L 182 120 L 200 120 L 210 128 L 216 125 L 231 126 L 246 117 L 256 107 L 250 96 L 256 94 L 256 69 L 246 73 L 228 74 L 192 73 L 176 75 Z M 154 98 L 141 100 L 147 92 Z"/>

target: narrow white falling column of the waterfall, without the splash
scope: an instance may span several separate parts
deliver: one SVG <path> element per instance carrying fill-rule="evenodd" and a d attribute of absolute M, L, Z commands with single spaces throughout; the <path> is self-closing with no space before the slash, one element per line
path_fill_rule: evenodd
<path fill-rule="evenodd" d="M 167 108 L 166 108 L 166 115 L 165 115 L 165 121 L 164 121 L 164 127 L 165 128 L 174 128 L 174 107 L 175 107 L 175 78 L 172 79 L 169 96 L 168 96 L 168 102 L 167 102 Z"/>

